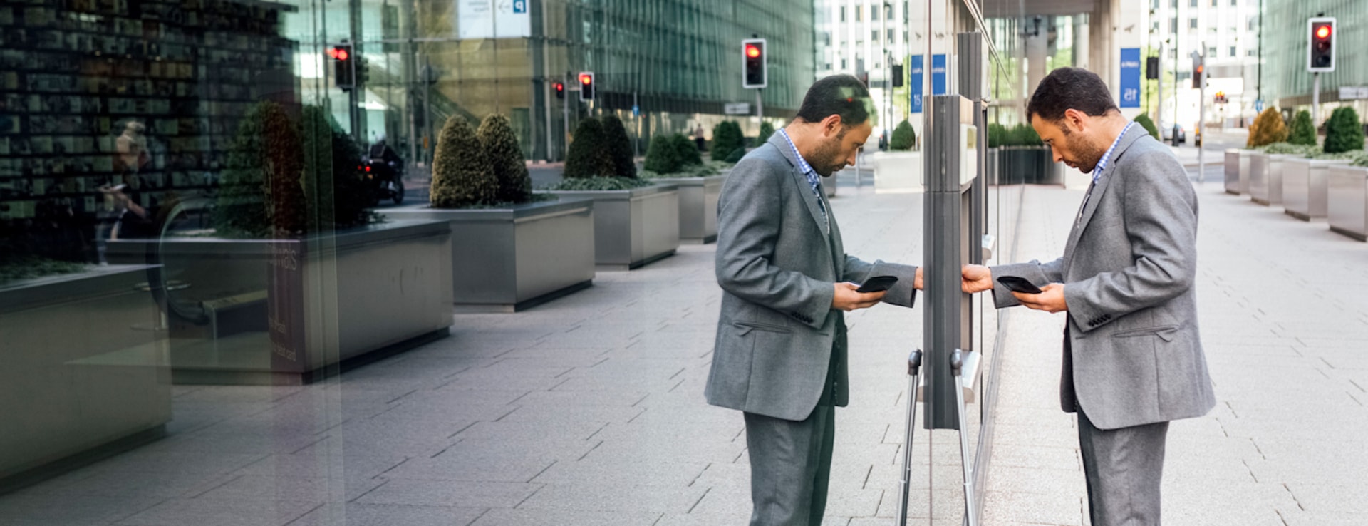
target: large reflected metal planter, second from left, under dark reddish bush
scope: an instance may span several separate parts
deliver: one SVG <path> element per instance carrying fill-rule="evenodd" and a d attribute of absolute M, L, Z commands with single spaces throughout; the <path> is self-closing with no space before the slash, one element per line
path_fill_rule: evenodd
<path fill-rule="evenodd" d="M 149 242 L 111 241 L 107 256 L 144 262 Z M 451 229 L 436 221 L 293 240 L 163 240 L 167 278 L 186 286 L 168 293 L 181 305 L 167 310 L 171 378 L 309 384 L 446 337 L 450 255 Z"/>

